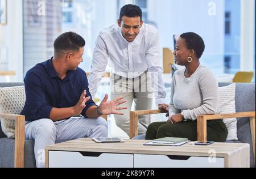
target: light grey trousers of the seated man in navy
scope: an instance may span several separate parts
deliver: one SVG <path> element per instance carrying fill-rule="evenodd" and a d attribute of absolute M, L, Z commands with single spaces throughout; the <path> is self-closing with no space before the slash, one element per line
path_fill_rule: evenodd
<path fill-rule="evenodd" d="M 108 122 L 102 118 L 71 117 L 53 122 L 41 119 L 26 123 L 26 139 L 35 140 L 36 167 L 45 167 L 45 147 L 78 138 L 108 137 Z"/>

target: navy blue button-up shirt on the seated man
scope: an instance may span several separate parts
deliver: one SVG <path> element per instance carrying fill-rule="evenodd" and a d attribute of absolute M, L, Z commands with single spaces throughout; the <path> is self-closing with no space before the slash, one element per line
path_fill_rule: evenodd
<path fill-rule="evenodd" d="M 20 114 L 26 116 L 26 121 L 49 118 L 53 107 L 75 106 L 84 90 L 86 97 L 90 96 L 91 99 L 85 103 L 82 116 L 86 117 L 86 110 L 96 105 L 90 95 L 84 70 L 77 68 L 75 71 L 68 71 L 67 76 L 62 80 L 52 65 L 52 58 L 28 70 L 24 83 L 26 103 Z"/>

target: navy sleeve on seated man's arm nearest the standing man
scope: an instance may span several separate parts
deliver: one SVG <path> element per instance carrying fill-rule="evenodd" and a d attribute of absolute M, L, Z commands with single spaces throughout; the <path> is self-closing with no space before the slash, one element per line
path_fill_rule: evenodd
<path fill-rule="evenodd" d="M 90 106 L 97 106 L 94 101 L 92 100 L 92 95 L 90 94 L 90 90 L 89 90 L 89 84 L 88 84 L 88 79 L 86 77 L 86 74 L 84 76 L 82 76 L 82 90 L 81 90 L 81 94 L 84 90 L 86 90 L 86 97 L 90 96 L 90 100 L 86 101 L 85 103 L 85 108 L 82 110 L 82 116 L 86 117 L 86 110 L 90 108 Z"/>

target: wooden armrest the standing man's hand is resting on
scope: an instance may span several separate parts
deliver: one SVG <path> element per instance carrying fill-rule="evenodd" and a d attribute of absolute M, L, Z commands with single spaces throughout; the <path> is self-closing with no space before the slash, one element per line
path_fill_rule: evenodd
<path fill-rule="evenodd" d="M 130 139 L 138 135 L 139 116 L 146 114 L 166 113 L 165 110 L 134 110 L 130 111 Z"/>

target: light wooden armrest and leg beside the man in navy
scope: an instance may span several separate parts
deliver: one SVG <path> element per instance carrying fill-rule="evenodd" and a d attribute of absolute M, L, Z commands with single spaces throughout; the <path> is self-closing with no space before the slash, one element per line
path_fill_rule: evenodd
<path fill-rule="evenodd" d="M 15 149 L 14 149 L 14 167 L 24 167 L 24 145 L 25 145 L 25 116 L 17 114 L 2 114 L 0 118 L 6 118 L 15 121 Z"/>

